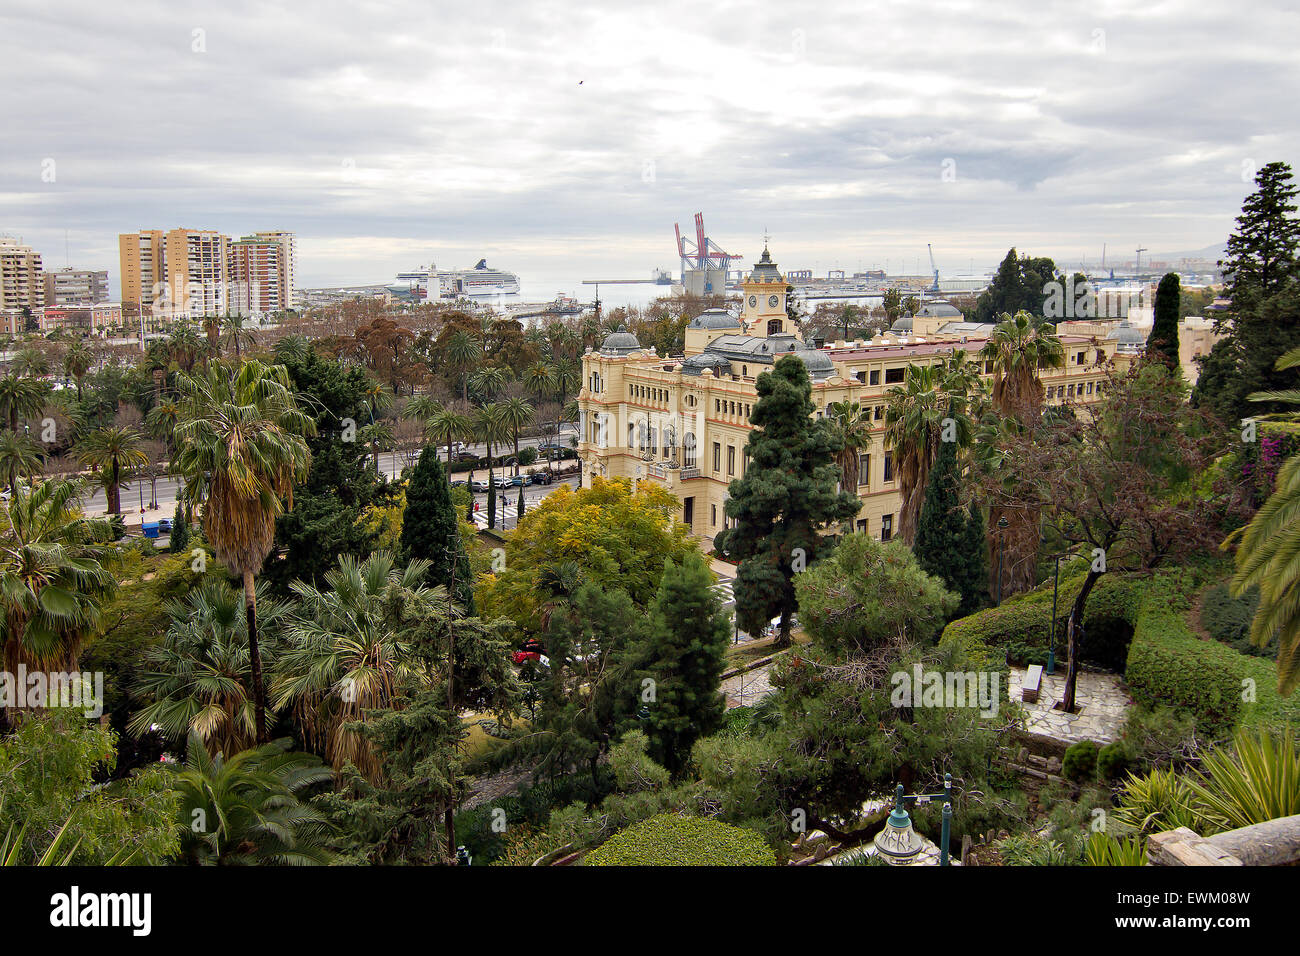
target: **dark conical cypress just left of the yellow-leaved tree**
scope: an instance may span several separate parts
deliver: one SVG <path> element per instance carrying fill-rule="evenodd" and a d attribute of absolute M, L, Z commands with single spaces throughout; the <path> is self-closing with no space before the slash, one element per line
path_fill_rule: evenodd
<path fill-rule="evenodd" d="M 473 580 L 469 557 L 460 540 L 456 509 L 451 503 L 451 486 L 438 460 L 438 451 L 426 447 L 411 472 L 407 485 L 407 506 L 402 514 L 402 557 L 406 561 L 422 558 L 430 562 L 429 581 L 450 585 L 452 549 L 455 553 L 456 594 L 465 614 L 474 613 Z"/>

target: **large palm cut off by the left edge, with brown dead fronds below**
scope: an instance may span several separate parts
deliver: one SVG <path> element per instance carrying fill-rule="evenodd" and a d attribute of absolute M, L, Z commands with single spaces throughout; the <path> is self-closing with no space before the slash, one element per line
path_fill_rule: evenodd
<path fill-rule="evenodd" d="M 99 622 L 114 578 L 104 568 L 110 525 L 83 518 L 84 481 L 18 483 L 0 507 L 0 614 L 4 670 L 18 665 L 73 670 L 81 641 Z M 0 710 L 0 724 L 8 709 Z"/>

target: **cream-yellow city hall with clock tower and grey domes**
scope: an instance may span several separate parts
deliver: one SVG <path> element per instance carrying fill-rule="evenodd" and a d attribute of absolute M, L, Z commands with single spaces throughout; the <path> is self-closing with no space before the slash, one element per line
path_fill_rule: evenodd
<path fill-rule="evenodd" d="M 611 333 L 582 358 L 578 393 L 578 457 L 582 481 L 592 476 L 650 481 L 680 502 L 679 518 L 702 538 L 725 525 L 727 488 L 748 467 L 745 442 L 758 401 L 755 380 L 784 355 L 807 367 L 812 405 L 824 416 L 836 402 L 858 402 L 875 423 L 871 447 L 858 462 L 862 502 L 857 528 L 888 540 L 897 529 L 901 496 L 892 450 L 884 445 L 887 392 L 902 385 L 909 365 L 942 362 L 962 349 L 975 360 L 992 326 L 957 315 L 918 337 L 904 316 L 870 342 L 806 345 L 785 312 L 785 277 L 767 248 L 742 282 L 737 316 L 712 308 L 686 325 L 682 356 L 642 349 L 627 330 Z M 1105 338 L 1061 336 L 1063 368 L 1045 369 L 1048 403 L 1095 401 L 1105 365 L 1126 363 L 1144 336 L 1117 328 Z M 984 363 L 992 375 L 992 363 Z"/>

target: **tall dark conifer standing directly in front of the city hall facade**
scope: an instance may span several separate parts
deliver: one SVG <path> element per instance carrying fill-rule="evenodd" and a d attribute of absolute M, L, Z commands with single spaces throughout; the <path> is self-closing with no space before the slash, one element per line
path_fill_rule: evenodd
<path fill-rule="evenodd" d="M 757 389 L 754 431 L 745 445 L 749 468 L 727 490 L 727 516 L 734 527 L 714 544 L 740 559 L 740 626 L 759 633 L 780 617 L 776 646 L 788 646 L 797 609 L 794 575 L 832 545 L 823 529 L 858 514 L 858 498 L 836 490 L 837 438 L 828 420 L 812 420 L 812 384 L 803 363 L 785 355 L 758 376 Z"/>

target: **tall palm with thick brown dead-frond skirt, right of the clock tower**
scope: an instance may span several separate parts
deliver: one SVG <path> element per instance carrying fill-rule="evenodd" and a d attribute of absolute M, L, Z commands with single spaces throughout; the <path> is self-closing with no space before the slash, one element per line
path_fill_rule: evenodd
<path fill-rule="evenodd" d="M 1039 373 L 1065 367 L 1065 346 L 1050 323 L 1019 311 L 1002 312 L 989 334 L 980 358 L 993 364 L 993 406 L 1004 418 L 1014 419 L 1020 428 L 1035 427 L 1043 410 L 1043 380 Z M 1036 509 L 989 510 L 988 527 L 1006 518 L 1001 544 L 1005 561 L 994 561 L 994 538 L 989 537 L 991 592 L 1014 594 L 1034 587 L 1039 551 L 1039 511 Z M 1002 581 L 996 581 L 1002 564 Z"/>

